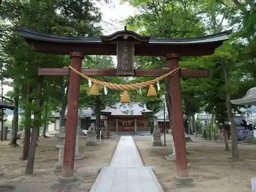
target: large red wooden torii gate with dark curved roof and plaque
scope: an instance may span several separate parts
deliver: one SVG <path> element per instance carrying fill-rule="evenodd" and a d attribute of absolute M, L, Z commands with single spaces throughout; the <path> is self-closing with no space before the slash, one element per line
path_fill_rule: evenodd
<path fill-rule="evenodd" d="M 184 56 L 203 56 L 214 53 L 231 31 L 187 39 L 161 39 L 141 36 L 135 32 L 118 31 L 100 37 L 72 37 L 41 33 L 16 27 L 19 36 L 24 37 L 33 50 L 43 53 L 70 55 L 71 66 L 87 76 L 161 76 L 179 67 L 179 59 Z M 117 55 L 117 69 L 81 68 L 84 55 Z M 134 69 L 134 56 L 164 56 L 169 69 Z M 74 157 L 76 127 L 78 118 L 80 76 L 69 68 L 42 68 L 38 75 L 70 76 L 66 141 L 61 178 L 65 182 L 74 181 Z M 174 144 L 176 147 L 177 178 L 188 178 L 187 156 L 182 120 L 182 100 L 180 77 L 209 77 L 207 70 L 184 70 L 170 78 Z"/>

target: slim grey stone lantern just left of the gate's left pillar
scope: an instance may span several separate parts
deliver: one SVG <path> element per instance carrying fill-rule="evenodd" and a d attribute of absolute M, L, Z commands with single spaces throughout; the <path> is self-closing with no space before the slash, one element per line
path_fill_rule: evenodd
<path fill-rule="evenodd" d="M 64 144 L 65 144 L 65 137 L 66 137 L 65 133 L 66 133 L 66 128 L 64 126 L 61 126 L 59 129 L 59 134 L 56 134 L 56 137 L 59 139 L 59 142 L 57 144 L 59 153 L 58 153 L 58 162 L 55 164 L 54 173 L 61 173 L 62 171 Z"/>

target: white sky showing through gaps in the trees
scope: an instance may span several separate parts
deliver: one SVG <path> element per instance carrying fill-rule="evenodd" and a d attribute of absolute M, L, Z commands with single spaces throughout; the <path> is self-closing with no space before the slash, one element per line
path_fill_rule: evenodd
<path fill-rule="evenodd" d="M 103 22 L 101 22 L 101 26 L 103 28 L 104 35 L 110 35 L 116 31 L 124 30 L 124 26 L 120 25 L 119 22 L 136 13 L 135 8 L 130 6 L 128 2 L 125 2 L 123 5 L 119 5 L 118 0 L 112 0 L 112 2 L 113 3 L 109 5 L 96 2 L 97 7 L 99 7 L 102 12 Z M 116 59 L 114 59 L 114 61 L 115 60 Z M 11 90 L 11 87 L 4 86 L 4 94 Z M 8 115 L 7 118 L 8 120 L 11 120 L 12 115 Z"/>

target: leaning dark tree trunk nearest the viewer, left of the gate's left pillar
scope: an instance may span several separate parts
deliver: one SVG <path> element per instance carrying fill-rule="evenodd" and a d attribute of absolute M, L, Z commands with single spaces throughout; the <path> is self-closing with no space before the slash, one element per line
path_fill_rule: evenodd
<path fill-rule="evenodd" d="M 34 160 L 35 160 L 35 152 L 37 145 L 37 136 L 40 127 L 41 120 L 41 89 L 42 89 L 42 81 L 44 80 L 43 76 L 39 76 L 37 79 L 37 94 L 35 100 L 35 113 L 34 113 L 34 121 L 33 121 L 33 131 L 32 131 L 32 139 L 29 148 L 28 161 L 25 169 L 25 174 L 33 174 L 34 170 Z"/>

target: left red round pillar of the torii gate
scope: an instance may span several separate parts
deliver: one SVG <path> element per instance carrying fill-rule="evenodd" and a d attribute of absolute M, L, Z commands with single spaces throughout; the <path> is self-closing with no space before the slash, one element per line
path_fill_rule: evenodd
<path fill-rule="evenodd" d="M 81 70 L 84 54 L 79 52 L 70 53 L 71 66 L 77 71 Z M 70 71 L 69 97 L 68 97 L 68 117 L 66 122 L 66 139 L 64 145 L 63 167 L 59 181 L 61 183 L 74 182 L 74 160 L 76 147 L 76 128 L 78 118 L 80 92 L 80 75 Z"/>

